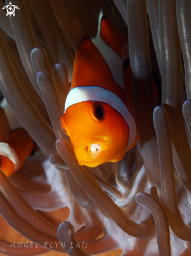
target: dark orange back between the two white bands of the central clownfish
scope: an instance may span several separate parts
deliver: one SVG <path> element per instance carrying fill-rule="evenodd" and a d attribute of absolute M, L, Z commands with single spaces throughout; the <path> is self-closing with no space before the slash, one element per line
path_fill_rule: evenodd
<path fill-rule="evenodd" d="M 115 81 L 109 65 L 90 37 L 80 40 L 75 54 L 71 89 L 81 86 L 98 86 L 115 93 L 124 103 L 126 101 L 124 90 Z"/>

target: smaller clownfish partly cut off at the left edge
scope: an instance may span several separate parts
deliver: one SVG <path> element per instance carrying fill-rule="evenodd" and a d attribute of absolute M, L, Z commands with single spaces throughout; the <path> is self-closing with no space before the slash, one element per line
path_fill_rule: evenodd
<path fill-rule="evenodd" d="M 0 169 L 7 177 L 19 170 L 35 151 L 35 142 L 25 129 L 19 127 L 21 124 L 3 99 L 0 106 Z"/>

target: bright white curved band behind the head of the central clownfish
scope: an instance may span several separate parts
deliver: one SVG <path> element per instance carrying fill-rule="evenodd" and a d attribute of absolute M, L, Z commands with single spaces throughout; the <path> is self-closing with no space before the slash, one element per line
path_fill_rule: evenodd
<path fill-rule="evenodd" d="M 117 97 L 117 95 L 101 87 L 95 87 L 95 86 L 76 87 L 70 90 L 66 98 L 64 112 L 66 112 L 66 109 L 69 106 L 79 102 L 84 102 L 84 101 L 104 102 L 109 104 L 115 110 L 117 110 L 123 116 L 123 118 L 125 119 L 129 127 L 129 140 L 128 140 L 127 148 L 130 146 L 130 144 L 133 143 L 136 137 L 135 121 L 132 115 L 130 114 L 129 110 L 125 106 L 125 104 L 121 101 L 119 97 Z"/>

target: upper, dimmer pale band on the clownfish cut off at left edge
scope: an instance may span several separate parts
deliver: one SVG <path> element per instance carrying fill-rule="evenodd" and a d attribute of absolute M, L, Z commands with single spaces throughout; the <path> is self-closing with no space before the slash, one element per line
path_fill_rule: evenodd
<path fill-rule="evenodd" d="M 20 124 L 18 118 L 16 117 L 15 113 L 13 112 L 5 98 L 1 102 L 0 106 L 5 111 L 5 115 L 7 116 L 11 130 L 23 128 L 23 126 Z"/>

